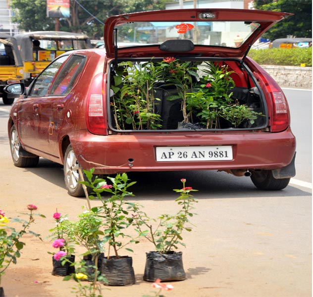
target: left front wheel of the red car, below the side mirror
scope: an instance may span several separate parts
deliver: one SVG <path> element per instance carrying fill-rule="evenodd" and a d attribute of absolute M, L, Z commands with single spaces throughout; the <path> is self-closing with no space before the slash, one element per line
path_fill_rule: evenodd
<path fill-rule="evenodd" d="M 23 157 L 20 155 L 21 144 L 19 142 L 18 133 L 15 125 L 10 130 L 10 151 L 14 166 L 16 167 L 36 167 L 39 162 L 39 156 Z"/>

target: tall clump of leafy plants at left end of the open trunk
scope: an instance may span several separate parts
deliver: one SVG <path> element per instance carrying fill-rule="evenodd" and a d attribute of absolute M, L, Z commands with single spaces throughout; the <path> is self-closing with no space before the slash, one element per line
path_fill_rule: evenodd
<path fill-rule="evenodd" d="M 160 115 L 156 112 L 155 84 L 159 78 L 154 63 L 122 62 L 118 64 L 111 86 L 112 109 L 117 129 L 157 129 Z"/>

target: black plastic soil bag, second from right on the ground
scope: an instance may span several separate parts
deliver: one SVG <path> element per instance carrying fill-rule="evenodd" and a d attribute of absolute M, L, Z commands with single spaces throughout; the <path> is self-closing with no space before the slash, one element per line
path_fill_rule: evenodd
<path fill-rule="evenodd" d="M 107 279 L 106 286 L 131 286 L 135 284 L 135 273 L 132 257 L 104 257 L 102 274 Z"/>

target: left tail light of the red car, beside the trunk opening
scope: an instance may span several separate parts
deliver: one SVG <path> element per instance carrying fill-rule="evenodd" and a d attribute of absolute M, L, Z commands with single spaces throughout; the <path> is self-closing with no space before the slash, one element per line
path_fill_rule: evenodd
<path fill-rule="evenodd" d="M 91 94 L 88 103 L 87 128 L 91 133 L 106 134 L 104 124 L 103 97 L 99 94 Z"/>

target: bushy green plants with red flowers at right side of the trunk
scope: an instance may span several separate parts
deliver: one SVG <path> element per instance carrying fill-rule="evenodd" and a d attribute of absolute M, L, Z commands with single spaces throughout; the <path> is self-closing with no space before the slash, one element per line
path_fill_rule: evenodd
<path fill-rule="evenodd" d="M 234 98 L 232 79 L 234 71 L 225 65 L 204 62 L 200 67 L 204 75 L 195 86 L 195 92 L 187 93 L 187 110 L 190 117 L 200 118 L 201 124 L 207 129 L 238 128 L 244 121 L 250 124 L 261 115 L 250 110 L 247 104 L 239 104 Z M 221 120 L 224 119 L 224 125 Z"/>

